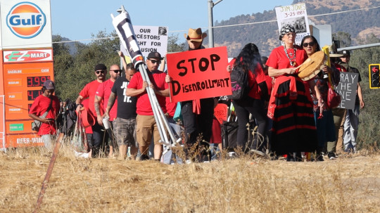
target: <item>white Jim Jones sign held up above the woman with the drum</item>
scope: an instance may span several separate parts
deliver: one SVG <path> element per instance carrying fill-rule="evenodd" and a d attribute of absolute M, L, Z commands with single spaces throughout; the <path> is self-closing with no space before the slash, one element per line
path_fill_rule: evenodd
<path fill-rule="evenodd" d="M 294 4 L 275 8 L 279 32 L 284 25 L 292 25 L 296 30 L 296 44 L 300 45 L 302 38 L 310 34 L 308 14 L 305 4 Z"/>

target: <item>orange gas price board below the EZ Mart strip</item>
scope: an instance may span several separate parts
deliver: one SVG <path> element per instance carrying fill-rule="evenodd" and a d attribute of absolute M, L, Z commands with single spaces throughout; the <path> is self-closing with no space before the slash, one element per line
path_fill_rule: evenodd
<path fill-rule="evenodd" d="M 42 94 L 46 80 L 53 80 L 53 62 L 4 63 L 6 141 L 9 146 L 39 146 L 28 116 L 33 101 Z"/>

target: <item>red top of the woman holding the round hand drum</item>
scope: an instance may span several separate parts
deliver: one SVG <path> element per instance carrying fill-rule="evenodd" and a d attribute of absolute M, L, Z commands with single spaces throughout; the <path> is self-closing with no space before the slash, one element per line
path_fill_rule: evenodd
<path fill-rule="evenodd" d="M 297 47 L 295 67 L 301 65 L 306 60 L 306 58 L 308 58 L 308 54 L 306 54 L 306 51 L 301 49 L 300 47 Z M 270 53 L 266 65 L 268 67 L 273 67 L 274 69 L 278 70 L 292 67 L 289 58 L 285 54 L 284 46 L 279 46 L 273 49 L 272 53 Z"/>

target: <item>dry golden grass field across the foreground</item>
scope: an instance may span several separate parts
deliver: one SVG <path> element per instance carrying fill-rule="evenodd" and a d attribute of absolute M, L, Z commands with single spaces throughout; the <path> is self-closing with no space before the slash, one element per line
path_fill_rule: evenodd
<path fill-rule="evenodd" d="M 0 153 L 0 212 L 33 212 L 51 155 Z M 380 212 L 380 155 L 167 165 L 61 147 L 40 212 Z"/>

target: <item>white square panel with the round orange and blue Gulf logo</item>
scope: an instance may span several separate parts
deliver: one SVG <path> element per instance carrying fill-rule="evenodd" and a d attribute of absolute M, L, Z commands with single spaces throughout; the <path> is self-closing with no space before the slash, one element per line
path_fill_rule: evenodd
<path fill-rule="evenodd" d="M 49 0 L 0 0 L 3 49 L 51 47 Z"/>

